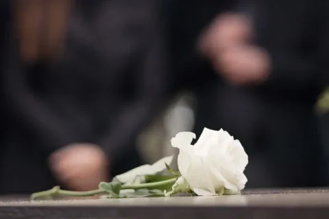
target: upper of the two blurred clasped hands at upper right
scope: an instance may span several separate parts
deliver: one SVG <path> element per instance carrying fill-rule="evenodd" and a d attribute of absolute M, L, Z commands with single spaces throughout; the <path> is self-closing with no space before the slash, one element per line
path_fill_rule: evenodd
<path fill-rule="evenodd" d="M 245 16 L 223 14 L 206 29 L 200 38 L 199 49 L 211 59 L 227 48 L 252 41 L 252 38 L 252 25 Z"/>

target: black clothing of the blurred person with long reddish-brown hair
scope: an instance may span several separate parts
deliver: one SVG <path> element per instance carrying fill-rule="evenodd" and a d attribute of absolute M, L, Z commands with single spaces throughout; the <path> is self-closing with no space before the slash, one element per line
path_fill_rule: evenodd
<path fill-rule="evenodd" d="M 27 65 L 12 34 L 4 42 L 10 123 L 0 193 L 54 185 L 46 159 L 73 142 L 102 146 L 112 175 L 142 164 L 136 137 L 160 110 L 166 88 L 154 1 L 75 1 L 57 61 Z M 27 184 L 31 179 L 37 182 Z"/>

